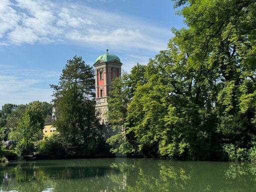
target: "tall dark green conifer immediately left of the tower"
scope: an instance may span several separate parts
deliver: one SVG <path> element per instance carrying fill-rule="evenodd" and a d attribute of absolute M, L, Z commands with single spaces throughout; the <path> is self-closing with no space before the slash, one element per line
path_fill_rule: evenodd
<path fill-rule="evenodd" d="M 57 119 L 53 122 L 67 155 L 93 154 L 101 142 L 96 117 L 94 71 L 81 57 L 68 60 L 54 89 Z"/>

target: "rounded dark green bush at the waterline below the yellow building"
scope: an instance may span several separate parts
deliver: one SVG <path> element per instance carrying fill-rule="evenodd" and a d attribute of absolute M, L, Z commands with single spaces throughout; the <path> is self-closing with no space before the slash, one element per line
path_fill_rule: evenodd
<path fill-rule="evenodd" d="M 52 134 L 39 143 L 39 155 L 48 159 L 62 158 L 65 156 L 65 150 L 57 134 Z"/>

